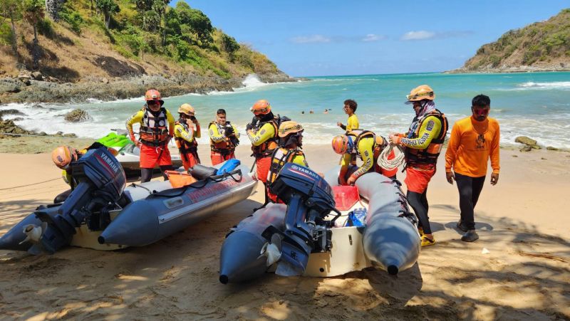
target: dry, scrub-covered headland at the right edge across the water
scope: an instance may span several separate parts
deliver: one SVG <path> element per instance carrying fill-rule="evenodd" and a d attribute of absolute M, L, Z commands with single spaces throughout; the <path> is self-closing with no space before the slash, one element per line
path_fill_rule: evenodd
<path fill-rule="evenodd" d="M 481 46 L 462 68 L 448 73 L 529 71 L 570 71 L 570 9 L 504 33 Z"/>

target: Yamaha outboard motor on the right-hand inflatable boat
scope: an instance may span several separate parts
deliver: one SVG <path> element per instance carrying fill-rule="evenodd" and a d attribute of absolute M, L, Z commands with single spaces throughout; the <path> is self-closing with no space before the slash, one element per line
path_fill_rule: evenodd
<path fill-rule="evenodd" d="M 311 169 L 287 163 L 269 189 L 287 204 L 285 231 L 269 226 L 261 234 L 269 242 L 276 234 L 281 237 L 281 257 L 275 273 L 303 275 L 309 254 L 328 251 L 332 246 L 331 227 L 341 213 L 335 209 L 331 186 Z M 338 215 L 326 221 L 331 211 Z"/>

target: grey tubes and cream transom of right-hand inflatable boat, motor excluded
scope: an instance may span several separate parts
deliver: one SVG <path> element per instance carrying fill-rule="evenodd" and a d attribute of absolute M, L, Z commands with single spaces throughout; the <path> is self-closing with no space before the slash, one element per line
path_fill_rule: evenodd
<path fill-rule="evenodd" d="M 336 167 L 325 174 L 328 184 L 337 185 L 339 169 Z M 269 204 L 241 221 L 228 234 L 221 249 L 220 282 L 243 282 L 266 272 L 327 277 L 371 266 L 387 270 L 392 275 L 410 268 L 418 260 L 420 236 L 400 183 L 381 174 L 369 173 L 360 177 L 356 186 L 361 201 L 341 211 L 336 220 L 334 213 L 324 217 L 324 220 L 334 221 L 328 224 L 330 235 L 325 234 L 326 240 L 315 238 L 315 243 L 321 243 L 321 246 L 311 248 L 302 273 L 289 273 L 290 270 L 282 273 L 284 269 L 279 269 L 286 254 L 283 246 L 286 236 L 278 238 L 275 233 L 269 235 L 267 231 L 274 228 L 289 233 L 286 226 L 289 208 L 285 204 Z M 359 207 L 368 209 L 366 225 L 347 226 L 348 213 Z M 309 216 L 306 216 L 306 221 L 311 223 Z"/>

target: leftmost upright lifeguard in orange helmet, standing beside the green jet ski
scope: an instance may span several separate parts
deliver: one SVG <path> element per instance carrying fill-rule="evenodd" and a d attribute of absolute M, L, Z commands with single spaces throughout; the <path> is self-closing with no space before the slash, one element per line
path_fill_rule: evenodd
<path fill-rule="evenodd" d="M 162 107 L 164 100 L 158 90 L 145 93 L 146 104 L 127 120 L 130 140 L 140 147 L 140 181 L 150 181 L 152 169 L 158 164 L 162 172 L 172 169 L 172 159 L 168 142 L 174 135 L 175 120 L 172 114 Z M 133 124 L 140 124 L 139 140 L 135 139 Z M 165 179 L 168 177 L 163 174 Z"/>

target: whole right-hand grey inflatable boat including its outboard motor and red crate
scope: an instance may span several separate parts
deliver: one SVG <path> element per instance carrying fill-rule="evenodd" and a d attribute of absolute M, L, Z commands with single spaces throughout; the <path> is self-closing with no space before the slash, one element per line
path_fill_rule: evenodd
<path fill-rule="evenodd" d="M 286 164 L 271 185 L 284 204 L 269 204 L 231 229 L 219 281 L 237 283 L 266 272 L 327 277 L 371 266 L 395 275 L 414 265 L 418 223 L 400 183 L 368 173 L 356 186 L 337 186 L 338 171 L 323 179 Z"/>

